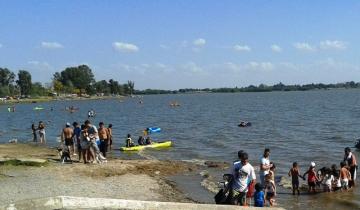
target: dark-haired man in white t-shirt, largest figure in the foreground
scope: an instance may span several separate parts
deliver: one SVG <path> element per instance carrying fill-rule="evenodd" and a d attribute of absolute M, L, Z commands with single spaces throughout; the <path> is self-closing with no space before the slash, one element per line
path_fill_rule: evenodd
<path fill-rule="evenodd" d="M 248 162 L 248 154 L 243 151 L 238 152 L 240 161 L 233 163 L 231 174 L 234 176 L 232 184 L 233 204 L 246 205 L 246 194 L 249 186 L 256 182 L 254 167 Z"/>

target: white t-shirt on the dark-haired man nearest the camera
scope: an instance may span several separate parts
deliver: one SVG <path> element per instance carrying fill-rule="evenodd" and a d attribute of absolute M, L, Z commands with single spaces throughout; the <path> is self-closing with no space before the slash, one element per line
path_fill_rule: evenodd
<path fill-rule="evenodd" d="M 232 165 L 231 174 L 234 176 L 232 187 L 239 192 L 247 192 L 250 182 L 256 179 L 254 167 L 250 163 L 242 165 L 241 161 Z"/>

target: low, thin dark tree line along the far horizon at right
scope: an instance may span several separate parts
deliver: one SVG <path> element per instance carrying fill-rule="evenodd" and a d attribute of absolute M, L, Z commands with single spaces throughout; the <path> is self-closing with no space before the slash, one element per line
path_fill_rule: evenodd
<path fill-rule="evenodd" d="M 234 87 L 234 88 L 186 88 L 179 90 L 154 90 L 146 89 L 143 91 L 135 91 L 136 94 L 176 94 L 176 93 L 195 93 L 195 92 L 212 92 L 212 93 L 237 93 L 237 92 L 271 92 L 271 91 L 307 91 L 307 90 L 329 90 L 329 89 L 338 89 L 338 88 L 360 88 L 359 82 L 344 82 L 336 84 L 306 84 L 306 85 L 284 85 L 283 83 L 278 83 L 275 85 L 264 85 L 260 84 L 258 86 L 249 85 L 247 87 Z"/>

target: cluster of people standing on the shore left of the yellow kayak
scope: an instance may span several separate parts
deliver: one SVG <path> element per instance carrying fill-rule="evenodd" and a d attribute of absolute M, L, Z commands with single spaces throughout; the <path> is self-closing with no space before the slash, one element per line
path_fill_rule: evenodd
<path fill-rule="evenodd" d="M 103 122 L 99 123 L 97 128 L 91 124 L 90 120 L 85 120 L 80 125 L 74 122 L 71 127 L 70 123 L 66 123 L 61 133 L 61 144 L 64 150 L 70 154 L 79 155 L 84 163 L 96 161 L 102 163 L 106 161 L 107 151 L 111 149 L 113 142 L 112 124 L 106 128 Z"/>

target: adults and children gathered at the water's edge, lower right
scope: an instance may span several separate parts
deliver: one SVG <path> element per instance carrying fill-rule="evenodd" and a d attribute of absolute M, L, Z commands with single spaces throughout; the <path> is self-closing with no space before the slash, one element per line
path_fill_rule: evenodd
<path fill-rule="evenodd" d="M 319 186 L 321 192 L 343 191 L 354 187 L 358 167 L 356 157 L 349 147 L 346 147 L 344 152 L 344 159 L 340 163 L 340 169 L 337 169 L 336 164 L 334 164 L 330 168 L 323 167 L 316 171 L 315 162 L 311 162 L 309 169 L 304 174 L 301 174 L 297 162 L 294 162 L 288 173 L 292 179 L 293 195 L 295 195 L 295 192 L 298 195 L 300 194 L 299 178 L 305 180 L 306 176 L 309 193 L 319 192 L 316 189 L 317 186 Z M 248 154 L 240 150 L 238 158 L 239 160 L 231 165 L 231 179 L 228 180 L 227 186 L 221 192 L 223 194 L 227 193 L 224 202 L 246 206 L 250 205 L 253 198 L 256 207 L 263 207 L 266 203 L 273 206 L 276 198 L 276 167 L 274 163 L 270 162 L 270 149 L 266 148 L 261 157 L 259 182 L 256 181 L 255 170 L 249 163 Z"/>

